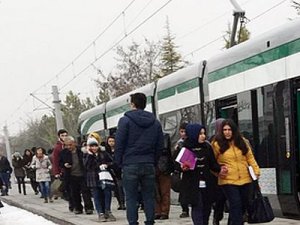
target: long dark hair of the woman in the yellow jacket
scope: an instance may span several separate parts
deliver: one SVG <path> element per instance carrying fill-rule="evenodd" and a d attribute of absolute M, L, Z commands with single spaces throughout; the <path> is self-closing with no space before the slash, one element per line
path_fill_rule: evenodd
<path fill-rule="evenodd" d="M 231 130 L 232 130 L 232 139 L 231 140 L 227 140 L 224 137 L 223 134 L 223 128 L 224 126 L 230 126 Z M 245 143 L 243 136 L 241 135 L 237 125 L 234 123 L 233 120 L 231 119 L 225 119 L 222 121 L 221 123 L 221 132 L 218 133 L 215 137 L 215 140 L 218 142 L 219 146 L 220 146 L 220 152 L 223 154 L 227 149 L 229 149 L 229 142 L 230 141 L 234 141 L 234 145 L 236 147 L 238 147 L 239 149 L 241 149 L 243 155 L 246 155 L 248 152 L 248 147 L 247 144 Z"/>

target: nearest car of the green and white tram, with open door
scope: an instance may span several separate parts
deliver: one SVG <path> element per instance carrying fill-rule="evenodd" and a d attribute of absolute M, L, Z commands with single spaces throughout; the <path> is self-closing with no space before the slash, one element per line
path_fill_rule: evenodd
<path fill-rule="evenodd" d="M 262 168 L 262 192 L 278 196 L 278 208 L 291 216 L 300 215 L 299 63 L 299 20 L 207 62 L 213 116 L 238 123 Z"/>

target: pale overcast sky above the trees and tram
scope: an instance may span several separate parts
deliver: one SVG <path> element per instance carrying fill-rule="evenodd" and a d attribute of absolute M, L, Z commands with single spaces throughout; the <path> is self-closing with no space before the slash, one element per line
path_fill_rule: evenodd
<path fill-rule="evenodd" d="M 290 0 L 237 2 L 252 38 L 297 17 Z M 53 85 L 95 99 L 95 67 L 112 72 L 118 44 L 162 40 L 166 18 L 185 60 L 224 51 L 232 14 L 230 0 L 0 0 L 0 135 L 51 113 Z"/>

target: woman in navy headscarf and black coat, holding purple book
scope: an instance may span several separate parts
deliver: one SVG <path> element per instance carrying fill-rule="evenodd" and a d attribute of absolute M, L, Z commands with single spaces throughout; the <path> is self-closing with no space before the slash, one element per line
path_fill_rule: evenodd
<path fill-rule="evenodd" d="M 211 211 L 213 180 L 211 170 L 224 173 L 224 169 L 217 163 L 212 147 L 206 141 L 206 129 L 200 124 L 186 126 L 187 138 L 183 147 L 191 150 L 196 157 L 194 169 L 181 165 L 183 170 L 181 201 L 191 205 L 191 216 L 194 225 L 207 225 Z"/>

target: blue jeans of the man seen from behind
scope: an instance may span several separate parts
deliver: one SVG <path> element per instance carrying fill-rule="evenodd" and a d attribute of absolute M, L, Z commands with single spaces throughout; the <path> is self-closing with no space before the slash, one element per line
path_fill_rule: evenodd
<path fill-rule="evenodd" d="M 140 188 L 146 225 L 154 224 L 155 215 L 155 167 L 153 164 L 132 164 L 123 167 L 127 220 L 129 225 L 138 224 L 138 189 Z"/>

